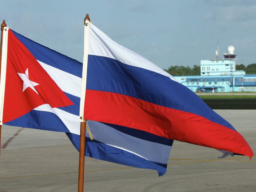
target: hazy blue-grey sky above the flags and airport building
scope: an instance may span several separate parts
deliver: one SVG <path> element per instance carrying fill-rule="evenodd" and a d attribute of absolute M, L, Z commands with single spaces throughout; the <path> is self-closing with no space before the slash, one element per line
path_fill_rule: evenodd
<path fill-rule="evenodd" d="M 256 63 L 255 0 L 2 0 L 0 19 L 33 41 L 82 61 L 83 20 L 157 64 L 199 65 L 235 47 Z"/>

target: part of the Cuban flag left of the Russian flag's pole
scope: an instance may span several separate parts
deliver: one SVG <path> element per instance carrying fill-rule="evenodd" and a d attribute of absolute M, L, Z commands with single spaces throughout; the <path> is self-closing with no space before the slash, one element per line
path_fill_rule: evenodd
<path fill-rule="evenodd" d="M 80 134 L 82 64 L 5 27 L 0 123 Z"/>

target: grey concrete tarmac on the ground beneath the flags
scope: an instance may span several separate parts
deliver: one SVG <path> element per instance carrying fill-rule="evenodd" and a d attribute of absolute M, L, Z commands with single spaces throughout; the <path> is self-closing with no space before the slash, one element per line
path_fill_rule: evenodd
<path fill-rule="evenodd" d="M 215 110 L 256 152 L 256 110 Z M 79 153 L 65 133 L 3 125 L 0 191 L 77 191 Z M 174 141 L 167 172 L 85 157 L 86 192 L 256 191 L 256 158 Z"/>

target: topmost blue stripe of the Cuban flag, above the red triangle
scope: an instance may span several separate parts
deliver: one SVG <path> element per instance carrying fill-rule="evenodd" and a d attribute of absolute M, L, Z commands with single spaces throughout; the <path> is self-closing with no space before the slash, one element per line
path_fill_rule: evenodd
<path fill-rule="evenodd" d="M 28 39 L 25 36 L 16 33 L 13 30 L 12 32 L 18 38 L 18 40 L 27 47 L 27 49 L 35 57 L 35 59 L 82 78 L 83 64 L 81 62 L 75 59 L 71 59 L 66 55 L 62 55 L 48 47 L 40 45 L 39 43 L 36 43 L 31 39 Z"/>

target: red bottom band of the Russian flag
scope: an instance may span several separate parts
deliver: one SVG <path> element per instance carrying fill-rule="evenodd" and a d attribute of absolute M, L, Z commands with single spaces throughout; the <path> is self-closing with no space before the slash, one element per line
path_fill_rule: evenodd
<path fill-rule="evenodd" d="M 250 146 L 237 131 L 193 113 L 105 91 L 87 90 L 85 101 L 84 117 L 88 120 L 122 125 L 161 137 L 253 156 Z"/>

